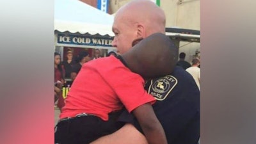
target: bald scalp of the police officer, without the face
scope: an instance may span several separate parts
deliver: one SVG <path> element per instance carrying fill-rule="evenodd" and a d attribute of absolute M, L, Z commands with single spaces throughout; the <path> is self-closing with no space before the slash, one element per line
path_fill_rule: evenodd
<path fill-rule="evenodd" d="M 165 14 L 159 6 L 148 0 L 134 0 L 122 6 L 116 12 L 115 19 L 124 19 L 129 26 L 141 24 L 146 36 L 153 33 L 165 33 Z"/>

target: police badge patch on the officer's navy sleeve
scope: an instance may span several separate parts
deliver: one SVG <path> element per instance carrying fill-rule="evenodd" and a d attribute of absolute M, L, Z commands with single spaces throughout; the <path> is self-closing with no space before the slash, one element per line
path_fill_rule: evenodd
<path fill-rule="evenodd" d="M 153 95 L 156 100 L 164 100 L 177 83 L 177 79 L 170 75 L 159 79 L 152 79 L 148 88 L 148 93 Z"/>

